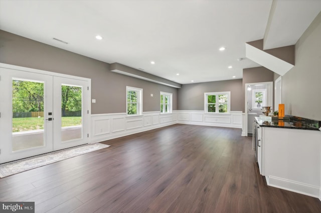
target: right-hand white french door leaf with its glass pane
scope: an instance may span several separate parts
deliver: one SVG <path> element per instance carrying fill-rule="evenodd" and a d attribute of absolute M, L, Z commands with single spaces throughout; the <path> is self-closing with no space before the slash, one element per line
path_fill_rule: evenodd
<path fill-rule="evenodd" d="M 54 150 L 88 142 L 88 82 L 54 76 Z"/>

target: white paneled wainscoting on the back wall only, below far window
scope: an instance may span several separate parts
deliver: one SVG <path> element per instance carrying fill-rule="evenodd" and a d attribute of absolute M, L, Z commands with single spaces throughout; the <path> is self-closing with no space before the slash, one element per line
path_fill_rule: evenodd
<path fill-rule="evenodd" d="M 178 123 L 242 128 L 242 111 L 206 113 L 203 110 L 177 110 Z"/>

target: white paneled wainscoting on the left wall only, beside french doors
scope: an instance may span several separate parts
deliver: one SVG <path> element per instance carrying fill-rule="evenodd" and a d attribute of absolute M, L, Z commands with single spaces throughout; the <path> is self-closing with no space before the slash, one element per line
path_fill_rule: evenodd
<path fill-rule="evenodd" d="M 143 112 L 142 115 L 127 116 L 126 113 L 91 115 L 90 141 L 100 142 L 141 131 L 177 123 L 176 111 L 161 114 L 159 111 Z"/>

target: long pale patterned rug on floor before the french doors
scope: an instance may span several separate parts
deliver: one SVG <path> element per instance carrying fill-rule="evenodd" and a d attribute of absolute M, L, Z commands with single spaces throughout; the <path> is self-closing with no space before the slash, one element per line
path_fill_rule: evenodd
<path fill-rule="evenodd" d="M 0 165 L 0 178 L 109 146 L 97 142 L 4 163 Z"/>

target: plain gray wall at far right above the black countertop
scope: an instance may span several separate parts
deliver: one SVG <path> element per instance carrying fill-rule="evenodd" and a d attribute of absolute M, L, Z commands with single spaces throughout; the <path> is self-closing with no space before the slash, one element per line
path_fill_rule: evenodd
<path fill-rule="evenodd" d="M 285 113 L 321 120 L 321 12 L 295 44 L 295 66 L 282 76 Z"/>

